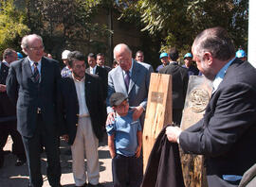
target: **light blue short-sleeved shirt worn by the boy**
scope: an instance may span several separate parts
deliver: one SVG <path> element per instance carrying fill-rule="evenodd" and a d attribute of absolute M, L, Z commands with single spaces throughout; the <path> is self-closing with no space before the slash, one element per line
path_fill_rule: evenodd
<path fill-rule="evenodd" d="M 133 111 L 125 116 L 117 116 L 113 124 L 106 126 L 109 136 L 115 134 L 116 153 L 132 157 L 137 150 L 137 131 L 141 131 L 139 121 L 133 121 Z"/>

